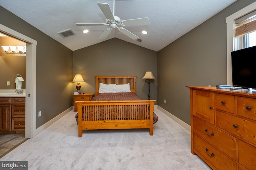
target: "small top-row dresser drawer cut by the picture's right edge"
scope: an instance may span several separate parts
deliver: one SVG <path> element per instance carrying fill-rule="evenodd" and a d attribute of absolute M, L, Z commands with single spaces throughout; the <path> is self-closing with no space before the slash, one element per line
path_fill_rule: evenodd
<path fill-rule="evenodd" d="M 237 96 L 236 101 L 238 115 L 256 120 L 256 99 Z"/>

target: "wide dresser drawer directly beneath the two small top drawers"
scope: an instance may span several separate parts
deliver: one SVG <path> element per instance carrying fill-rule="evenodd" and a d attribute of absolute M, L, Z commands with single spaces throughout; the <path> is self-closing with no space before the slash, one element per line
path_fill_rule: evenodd
<path fill-rule="evenodd" d="M 256 123 L 216 111 L 216 126 L 256 145 Z"/>

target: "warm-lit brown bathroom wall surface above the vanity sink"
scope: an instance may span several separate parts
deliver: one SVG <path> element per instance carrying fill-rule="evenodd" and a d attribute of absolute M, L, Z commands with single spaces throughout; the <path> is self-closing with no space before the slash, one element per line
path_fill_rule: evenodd
<path fill-rule="evenodd" d="M 22 76 L 22 89 L 26 89 L 26 54 L 8 54 L 2 45 L 26 46 L 26 43 L 0 34 L 0 89 L 16 89 L 16 74 Z"/>

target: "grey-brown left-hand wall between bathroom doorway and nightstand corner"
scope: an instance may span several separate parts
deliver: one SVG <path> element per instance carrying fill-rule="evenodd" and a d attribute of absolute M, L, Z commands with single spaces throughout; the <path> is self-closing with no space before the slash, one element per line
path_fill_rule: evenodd
<path fill-rule="evenodd" d="M 0 23 L 37 41 L 36 128 L 72 106 L 73 52 L 0 6 Z M 38 117 L 38 111 L 42 111 Z"/>

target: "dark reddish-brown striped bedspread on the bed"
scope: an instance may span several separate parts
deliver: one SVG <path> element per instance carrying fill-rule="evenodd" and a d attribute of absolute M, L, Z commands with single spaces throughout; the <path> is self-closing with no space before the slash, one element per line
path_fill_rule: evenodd
<path fill-rule="evenodd" d="M 141 100 L 135 93 L 99 93 L 92 101 L 121 101 L 121 100 Z M 76 114 L 78 124 L 78 113 Z M 153 124 L 158 121 L 158 116 L 154 113 Z"/>

